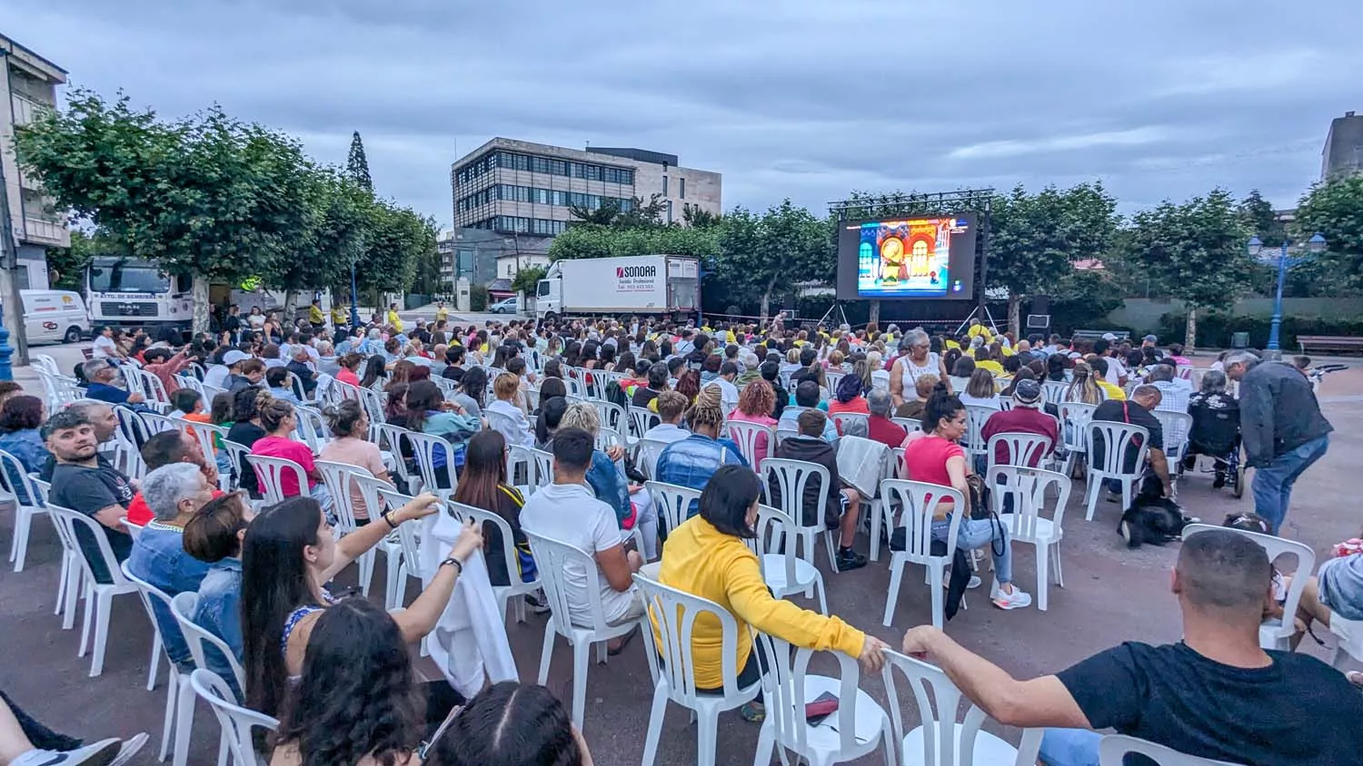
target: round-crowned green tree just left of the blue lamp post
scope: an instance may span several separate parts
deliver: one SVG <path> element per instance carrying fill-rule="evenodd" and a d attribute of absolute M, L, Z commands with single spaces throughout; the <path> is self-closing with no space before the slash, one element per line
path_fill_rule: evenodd
<path fill-rule="evenodd" d="M 1189 350 L 1197 343 L 1197 310 L 1227 309 L 1244 290 L 1254 268 L 1247 238 L 1225 189 L 1180 204 L 1165 200 L 1133 216 L 1130 257 L 1187 302 Z"/>

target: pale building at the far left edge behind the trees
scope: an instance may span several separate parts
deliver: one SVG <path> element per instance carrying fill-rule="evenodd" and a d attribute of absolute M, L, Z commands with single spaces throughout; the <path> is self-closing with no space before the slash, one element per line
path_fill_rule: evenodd
<path fill-rule="evenodd" d="M 71 246 L 67 216 L 52 205 L 42 186 L 19 170 L 14 133 L 42 109 L 57 105 L 57 86 L 67 71 L 0 34 L 0 162 L 10 220 L 19 253 L 19 287 L 48 288 L 48 248 Z"/>

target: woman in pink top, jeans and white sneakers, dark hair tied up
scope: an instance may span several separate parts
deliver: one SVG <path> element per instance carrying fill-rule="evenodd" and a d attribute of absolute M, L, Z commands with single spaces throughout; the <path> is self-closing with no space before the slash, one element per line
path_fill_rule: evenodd
<path fill-rule="evenodd" d="M 984 371 L 984 370 L 980 370 Z M 984 371 L 984 374 L 988 374 Z M 953 396 L 946 384 L 936 384 L 923 407 L 923 431 L 909 434 L 904 450 L 904 468 L 916 482 L 951 487 L 970 501 L 968 476 L 972 473 L 965 450 L 957 444 L 965 435 L 965 404 Z M 1032 604 L 1032 596 L 1013 585 L 1013 542 L 1007 527 L 996 518 L 970 518 L 970 507 L 955 507 L 953 501 L 936 505 L 932 517 L 932 539 L 946 542 L 951 529 L 951 514 L 962 513 L 955 547 L 962 551 L 988 547 L 994 555 L 996 595 L 994 605 L 1015 610 Z M 1002 552 L 998 550 L 1002 547 Z M 972 576 L 970 584 L 977 585 Z"/>

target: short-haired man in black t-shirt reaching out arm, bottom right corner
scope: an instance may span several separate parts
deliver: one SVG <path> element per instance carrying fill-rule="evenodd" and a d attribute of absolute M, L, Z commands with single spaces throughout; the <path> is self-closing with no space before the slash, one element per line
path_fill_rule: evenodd
<path fill-rule="evenodd" d="M 1056 675 L 1017 680 L 932 626 L 909 630 L 904 653 L 930 657 L 1005 725 L 1063 727 L 1047 728 L 1040 756 L 1048 766 L 1097 766 L 1101 735 L 1092 729 L 1109 727 L 1232 763 L 1363 759 L 1363 694 L 1314 657 L 1259 648 L 1273 567 L 1258 543 L 1229 529 L 1190 536 L 1172 590 L 1182 642 L 1129 641 Z"/>

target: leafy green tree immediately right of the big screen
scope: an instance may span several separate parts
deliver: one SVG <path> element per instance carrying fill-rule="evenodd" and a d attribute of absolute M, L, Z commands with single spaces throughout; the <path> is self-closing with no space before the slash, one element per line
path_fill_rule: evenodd
<path fill-rule="evenodd" d="M 1035 195 L 1018 185 L 992 203 L 988 287 L 1009 293 L 1009 327 L 1021 336 L 1020 306 L 1054 294 L 1074 261 L 1100 257 L 1118 227 L 1116 199 L 1101 184 L 1047 186 Z"/>

